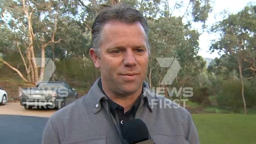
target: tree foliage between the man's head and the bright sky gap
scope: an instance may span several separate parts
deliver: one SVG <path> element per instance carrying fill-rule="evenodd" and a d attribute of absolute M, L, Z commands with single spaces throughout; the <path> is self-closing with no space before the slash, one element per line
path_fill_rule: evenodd
<path fill-rule="evenodd" d="M 149 42 L 151 54 L 149 57 L 148 79 L 151 85 L 158 87 L 168 68 L 161 68 L 156 57 L 174 57 L 181 69 L 173 86 L 180 87 L 182 79 L 197 76 L 205 67 L 205 61 L 198 54 L 199 33 L 184 26 L 180 17 L 162 17 L 148 20 Z M 150 76 L 151 75 L 151 76 Z M 188 79 L 188 78 L 187 78 Z"/>

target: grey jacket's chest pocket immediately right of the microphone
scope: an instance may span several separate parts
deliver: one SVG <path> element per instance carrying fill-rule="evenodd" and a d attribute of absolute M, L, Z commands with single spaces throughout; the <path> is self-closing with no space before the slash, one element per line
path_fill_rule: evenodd
<path fill-rule="evenodd" d="M 151 137 L 155 144 L 189 144 L 183 135 L 154 134 Z"/>

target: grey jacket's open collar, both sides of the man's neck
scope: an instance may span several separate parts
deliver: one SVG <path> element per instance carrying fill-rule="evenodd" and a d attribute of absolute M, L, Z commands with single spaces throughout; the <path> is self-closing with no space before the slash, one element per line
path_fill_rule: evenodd
<path fill-rule="evenodd" d="M 98 111 L 100 111 L 102 107 L 101 105 L 102 100 L 108 100 L 107 96 L 102 93 L 102 91 L 100 90 L 100 87 L 98 86 L 100 79 L 101 78 L 98 78 L 95 81 L 95 83 L 93 84 L 93 86 L 91 87 L 87 95 L 89 99 L 89 105 L 91 106 L 93 113 L 98 113 Z M 144 92 L 141 95 L 143 97 L 142 102 L 147 103 L 148 109 L 152 112 L 152 106 L 150 103 L 152 99 L 152 92 L 145 81 L 143 82 L 143 85 L 144 85 L 144 88 L 143 88 Z"/>

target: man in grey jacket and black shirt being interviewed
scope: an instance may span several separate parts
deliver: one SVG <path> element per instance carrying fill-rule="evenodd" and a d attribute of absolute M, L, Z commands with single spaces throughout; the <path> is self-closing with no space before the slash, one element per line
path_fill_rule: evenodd
<path fill-rule="evenodd" d="M 123 6 L 105 9 L 96 17 L 92 35 L 89 52 L 101 78 L 87 95 L 50 117 L 42 143 L 124 144 L 123 124 L 139 118 L 155 144 L 199 144 L 187 110 L 145 92 L 150 52 L 143 15 Z M 164 107 L 164 101 L 171 107 Z"/>

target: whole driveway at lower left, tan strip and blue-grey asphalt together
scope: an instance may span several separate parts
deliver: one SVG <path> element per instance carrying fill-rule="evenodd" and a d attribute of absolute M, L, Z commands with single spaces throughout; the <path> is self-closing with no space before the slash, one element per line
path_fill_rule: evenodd
<path fill-rule="evenodd" d="M 20 103 L 0 105 L 0 144 L 41 144 L 48 117 L 55 112 L 24 109 Z"/>

